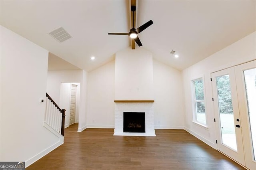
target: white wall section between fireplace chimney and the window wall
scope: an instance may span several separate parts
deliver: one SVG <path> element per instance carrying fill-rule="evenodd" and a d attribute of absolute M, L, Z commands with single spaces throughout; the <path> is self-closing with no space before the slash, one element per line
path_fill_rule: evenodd
<path fill-rule="evenodd" d="M 182 73 L 153 60 L 155 128 L 184 128 Z"/>

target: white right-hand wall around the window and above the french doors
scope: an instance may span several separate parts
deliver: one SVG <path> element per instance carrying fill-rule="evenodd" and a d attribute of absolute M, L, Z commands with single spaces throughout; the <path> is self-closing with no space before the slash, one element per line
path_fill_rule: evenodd
<path fill-rule="evenodd" d="M 185 127 L 186 130 L 206 142 L 212 147 L 216 147 L 215 123 L 212 103 L 212 85 L 210 74 L 220 69 L 225 69 L 240 63 L 256 59 L 256 32 L 229 45 L 228 47 L 214 53 L 206 59 L 192 65 L 182 71 L 184 94 L 185 94 Z M 195 77 L 204 76 L 206 91 L 206 121 L 208 128 L 192 123 L 192 89 L 191 80 Z"/>

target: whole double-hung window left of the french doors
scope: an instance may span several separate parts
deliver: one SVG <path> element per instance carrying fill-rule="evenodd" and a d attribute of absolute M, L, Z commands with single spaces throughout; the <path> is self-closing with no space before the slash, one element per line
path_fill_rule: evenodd
<path fill-rule="evenodd" d="M 194 86 L 194 121 L 206 125 L 203 79 L 193 81 Z"/>

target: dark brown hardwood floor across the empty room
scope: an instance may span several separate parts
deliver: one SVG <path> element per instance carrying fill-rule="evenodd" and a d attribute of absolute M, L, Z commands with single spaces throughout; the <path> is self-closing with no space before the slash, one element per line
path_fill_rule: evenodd
<path fill-rule="evenodd" d="M 65 129 L 64 144 L 28 170 L 242 170 L 242 166 L 185 130 L 156 130 L 156 137 L 113 136 L 114 129 L 78 124 Z"/>

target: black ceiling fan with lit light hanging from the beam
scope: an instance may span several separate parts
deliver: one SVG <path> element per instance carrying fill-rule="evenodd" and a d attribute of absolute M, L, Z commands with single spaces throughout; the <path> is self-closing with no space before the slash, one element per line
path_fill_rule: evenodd
<path fill-rule="evenodd" d="M 108 33 L 108 35 L 127 35 L 127 36 L 130 36 L 130 38 L 132 38 L 140 47 L 140 46 L 142 46 L 142 43 L 140 42 L 140 39 L 139 39 L 137 34 L 142 32 L 143 30 L 145 30 L 149 26 L 151 26 L 153 24 L 153 21 L 149 20 L 148 22 L 146 22 L 142 26 L 135 29 L 134 28 L 134 11 L 136 10 L 136 6 L 132 6 L 131 10 L 133 12 L 133 21 L 132 21 L 132 29 L 130 29 L 130 32 L 127 32 L 127 33 Z"/>

